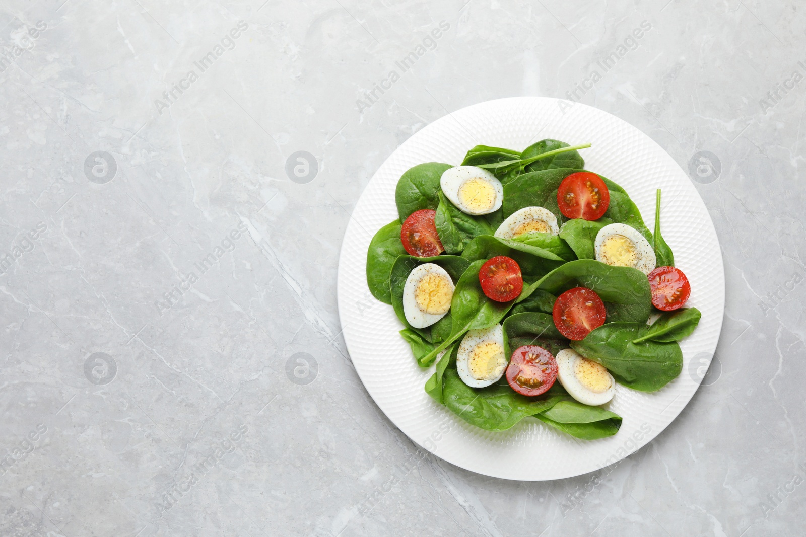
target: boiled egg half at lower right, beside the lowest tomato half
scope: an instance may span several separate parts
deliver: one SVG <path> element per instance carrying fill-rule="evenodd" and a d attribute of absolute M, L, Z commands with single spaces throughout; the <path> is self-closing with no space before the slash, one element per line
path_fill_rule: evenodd
<path fill-rule="evenodd" d="M 605 366 L 588 360 L 574 349 L 557 353 L 557 380 L 568 394 L 584 405 L 603 405 L 616 393 L 616 381 Z"/>

